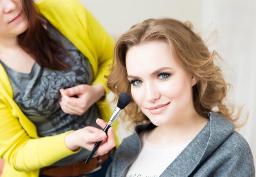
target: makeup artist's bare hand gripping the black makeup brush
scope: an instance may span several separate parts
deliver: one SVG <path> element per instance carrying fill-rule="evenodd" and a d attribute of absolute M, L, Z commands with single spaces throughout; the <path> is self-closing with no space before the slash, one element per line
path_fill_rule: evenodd
<path fill-rule="evenodd" d="M 99 118 L 96 122 L 102 129 L 107 125 L 105 121 Z M 102 141 L 102 143 L 96 151 L 98 155 L 106 154 L 110 149 L 115 147 L 116 144 L 113 128 L 110 127 L 108 129 L 108 135 L 96 127 L 84 127 L 83 129 L 68 133 L 65 136 L 65 144 L 71 151 L 75 151 L 79 147 L 83 147 L 91 151 L 94 144 L 99 141 Z"/>

